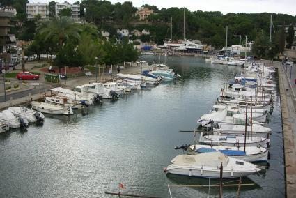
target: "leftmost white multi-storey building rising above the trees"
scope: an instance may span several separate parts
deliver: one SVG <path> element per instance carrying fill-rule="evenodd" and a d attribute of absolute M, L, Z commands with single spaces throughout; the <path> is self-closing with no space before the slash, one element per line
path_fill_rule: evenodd
<path fill-rule="evenodd" d="M 46 3 L 26 3 L 26 15 L 28 20 L 33 20 L 36 15 L 40 15 L 42 20 L 49 19 L 49 8 Z"/>

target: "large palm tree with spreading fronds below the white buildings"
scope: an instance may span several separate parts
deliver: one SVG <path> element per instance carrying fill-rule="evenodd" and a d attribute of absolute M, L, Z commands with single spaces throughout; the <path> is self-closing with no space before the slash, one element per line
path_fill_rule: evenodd
<path fill-rule="evenodd" d="M 43 23 L 38 29 L 38 32 L 45 36 L 45 41 L 50 39 L 56 42 L 58 50 L 61 50 L 68 40 L 78 42 L 81 31 L 79 25 L 70 17 L 56 17 Z"/>

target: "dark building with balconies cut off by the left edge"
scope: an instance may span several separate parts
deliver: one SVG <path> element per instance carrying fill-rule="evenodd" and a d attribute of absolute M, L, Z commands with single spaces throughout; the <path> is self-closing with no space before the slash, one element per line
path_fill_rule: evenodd
<path fill-rule="evenodd" d="M 13 17 L 13 13 L 0 10 L 0 52 L 6 52 L 6 47 L 17 42 L 15 35 L 10 33 L 10 28 L 14 26 Z"/>

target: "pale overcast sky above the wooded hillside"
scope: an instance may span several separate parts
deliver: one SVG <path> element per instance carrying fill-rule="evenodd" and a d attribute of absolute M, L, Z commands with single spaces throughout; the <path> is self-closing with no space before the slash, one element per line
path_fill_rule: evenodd
<path fill-rule="evenodd" d="M 51 0 L 29 0 L 30 3 L 48 3 Z M 63 3 L 64 0 L 56 0 Z M 74 3 L 77 0 L 68 0 Z M 109 0 L 112 3 L 121 0 Z M 296 0 L 130 0 L 135 7 L 149 4 L 157 8 L 187 7 L 189 10 L 221 11 L 221 13 L 284 13 L 296 15 Z"/>

